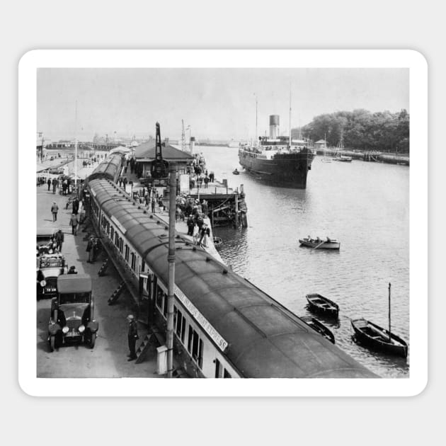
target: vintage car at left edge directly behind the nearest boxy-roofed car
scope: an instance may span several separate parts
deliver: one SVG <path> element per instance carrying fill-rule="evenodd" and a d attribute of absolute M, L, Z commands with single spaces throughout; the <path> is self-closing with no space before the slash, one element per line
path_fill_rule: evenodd
<path fill-rule="evenodd" d="M 37 299 L 57 295 L 57 278 L 68 273 L 68 265 L 62 254 L 42 254 L 37 258 Z"/>

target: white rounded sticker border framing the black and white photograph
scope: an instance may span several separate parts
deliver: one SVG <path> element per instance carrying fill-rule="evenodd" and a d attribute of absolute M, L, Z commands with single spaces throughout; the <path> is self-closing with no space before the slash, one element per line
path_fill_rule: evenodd
<path fill-rule="evenodd" d="M 274 62 L 271 62 L 274 61 Z M 18 381 L 33 396 L 414 396 L 428 382 L 428 65 L 413 50 L 33 50 L 18 69 L 18 162 L 33 178 L 39 67 L 407 67 L 410 70 L 410 376 L 407 379 L 42 379 L 33 280 L 18 284 Z M 35 195 L 18 184 L 18 270 L 34 271 Z M 30 202 L 30 199 L 32 200 Z M 26 204 L 26 205 L 25 205 Z M 19 278 L 32 274 L 20 274 Z"/>

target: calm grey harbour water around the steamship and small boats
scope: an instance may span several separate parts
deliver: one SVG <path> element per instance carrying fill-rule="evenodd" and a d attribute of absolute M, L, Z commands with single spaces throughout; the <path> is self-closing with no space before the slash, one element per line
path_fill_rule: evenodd
<path fill-rule="evenodd" d="M 266 185 L 239 166 L 238 149 L 200 146 L 216 178 L 244 184 L 248 228 L 216 228 L 219 253 L 247 278 L 298 316 L 310 316 L 305 295 L 316 292 L 339 304 L 336 345 L 381 377 L 409 374 L 409 168 L 352 161 L 325 163 L 316 156 L 307 189 Z M 234 168 L 241 171 L 232 174 Z M 299 246 L 304 236 L 341 241 L 339 251 Z M 363 316 L 388 326 L 409 345 L 406 359 L 356 344 L 350 319 Z"/>

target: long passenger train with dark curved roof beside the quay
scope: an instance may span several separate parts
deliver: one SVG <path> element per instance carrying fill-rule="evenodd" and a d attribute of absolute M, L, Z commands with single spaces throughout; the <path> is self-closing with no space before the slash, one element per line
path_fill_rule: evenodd
<path fill-rule="evenodd" d="M 90 218 L 166 329 L 168 226 L 116 185 L 123 154 L 86 179 Z M 199 246 L 175 238 L 174 355 L 190 377 L 378 378 Z"/>

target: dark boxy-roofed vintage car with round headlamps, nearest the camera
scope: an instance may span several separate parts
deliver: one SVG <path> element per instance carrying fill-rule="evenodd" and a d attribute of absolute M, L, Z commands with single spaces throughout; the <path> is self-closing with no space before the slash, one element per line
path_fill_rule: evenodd
<path fill-rule="evenodd" d="M 59 275 L 57 297 L 52 299 L 48 324 L 50 351 L 74 342 L 93 348 L 98 328 L 93 318 L 91 277 L 88 274 Z"/>

